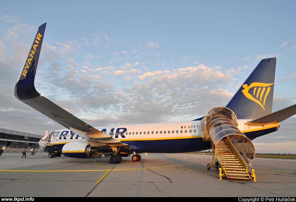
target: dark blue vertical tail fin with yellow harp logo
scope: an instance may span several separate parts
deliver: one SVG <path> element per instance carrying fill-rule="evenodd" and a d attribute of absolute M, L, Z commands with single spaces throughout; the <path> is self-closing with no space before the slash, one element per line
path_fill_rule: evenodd
<path fill-rule="evenodd" d="M 227 108 L 238 119 L 254 119 L 271 113 L 276 58 L 261 60 L 234 94 Z"/>

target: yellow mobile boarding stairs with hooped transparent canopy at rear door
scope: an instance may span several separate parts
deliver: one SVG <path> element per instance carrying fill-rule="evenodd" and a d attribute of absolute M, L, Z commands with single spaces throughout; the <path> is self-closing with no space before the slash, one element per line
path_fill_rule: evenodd
<path fill-rule="evenodd" d="M 218 177 L 255 180 L 251 162 L 255 147 L 242 131 L 237 128 L 237 117 L 226 107 L 215 107 L 201 120 L 200 136 L 212 145 L 213 161 L 208 164 L 219 171 Z M 214 154 L 215 153 L 215 154 Z"/>

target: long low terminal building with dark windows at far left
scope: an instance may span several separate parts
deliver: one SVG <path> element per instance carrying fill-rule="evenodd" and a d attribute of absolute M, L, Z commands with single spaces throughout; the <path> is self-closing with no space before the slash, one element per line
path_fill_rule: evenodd
<path fill-rule="evenodd" d="M 0 128 L 0 145 L 5 145 L 7 148 L 33 147 L 42 137 L 43 135 Z"/>

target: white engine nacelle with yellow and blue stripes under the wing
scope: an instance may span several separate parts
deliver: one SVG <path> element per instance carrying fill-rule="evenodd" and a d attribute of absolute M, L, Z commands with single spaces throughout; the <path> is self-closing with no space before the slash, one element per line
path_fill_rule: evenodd
<path fill-rule="evenodd" d="M 69 142 L 63 146 L 62 154 L 65 157 L 88 158 L 96 149 L 85 142 Z"/>

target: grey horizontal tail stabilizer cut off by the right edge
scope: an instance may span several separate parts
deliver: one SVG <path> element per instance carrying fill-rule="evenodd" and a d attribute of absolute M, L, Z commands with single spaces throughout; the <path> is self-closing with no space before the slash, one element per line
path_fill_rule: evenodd
<path fill-rule="evenodd" d="M 248 126 L 272 125 L 272 124 L 280 123 L 281 121 L 286 120 L 287 118 L 295 114 L 296 114 L 296 104 L 290 107 L 284 108 L 282 110 L 276 111 L 274 113 L 262 116 L 260 118 L 256 118 L 254 120 L 248 121 L 247 123 L 244 123 L 244 124 Z"/>

